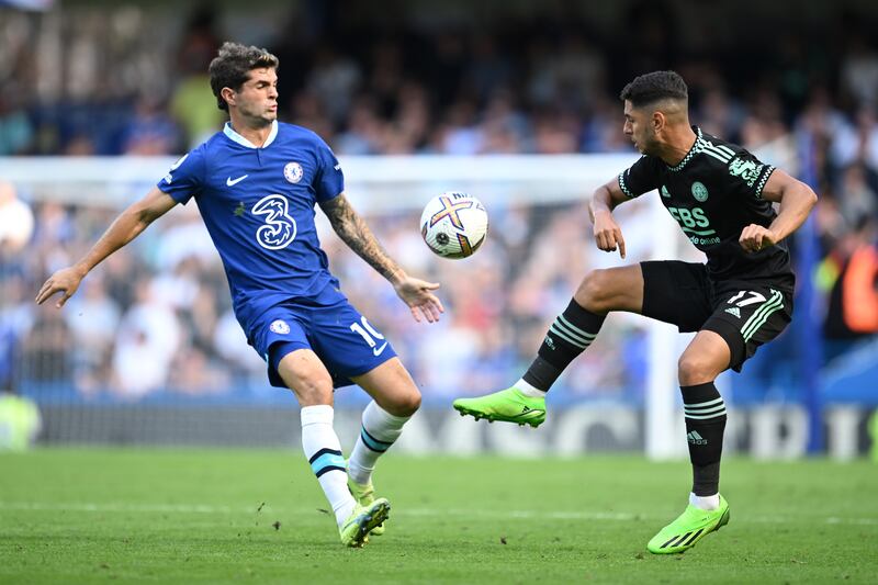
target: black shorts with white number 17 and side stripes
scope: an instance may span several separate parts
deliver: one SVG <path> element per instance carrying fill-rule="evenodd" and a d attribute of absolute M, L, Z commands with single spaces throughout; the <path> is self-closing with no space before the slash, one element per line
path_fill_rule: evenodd
<path fill-rule="evenodd" d="M 729 345 L 736 372 L 792 317 L 792 292 L 770 280 L 713 282 L 705 265 L 678 260 L 640 266 L 643 315 L 676 325 L 680 333 L 717 333 Z"/>

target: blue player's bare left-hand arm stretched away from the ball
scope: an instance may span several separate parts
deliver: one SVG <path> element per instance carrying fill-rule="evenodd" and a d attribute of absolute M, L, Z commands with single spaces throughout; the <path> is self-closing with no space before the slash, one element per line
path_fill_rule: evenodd
<path fill-rule="evenodd" d="M 63 307 L 92 268 L 137 237 L 146 226 L 168 213 L 176 204 L 170 195 L 154 187 L 145 198 L 132 203 L 115 218 L 81 260 L 52 274 L 36 294 L 36 304 L 42 305 L 55 293 L 63 292 L 64 294 L 55 303 L 56 307 Z"/>

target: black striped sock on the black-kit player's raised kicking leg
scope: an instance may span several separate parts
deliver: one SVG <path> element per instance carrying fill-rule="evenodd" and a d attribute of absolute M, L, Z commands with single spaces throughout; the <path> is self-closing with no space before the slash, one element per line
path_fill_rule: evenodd
<path fill-rule="evenodd" d="M 548 391 L 576 356 L 595 340 L 606 315 L 597 315 L 571 300 L 549 327 L 537 359 L 522 376 L 533 387 Z"/>

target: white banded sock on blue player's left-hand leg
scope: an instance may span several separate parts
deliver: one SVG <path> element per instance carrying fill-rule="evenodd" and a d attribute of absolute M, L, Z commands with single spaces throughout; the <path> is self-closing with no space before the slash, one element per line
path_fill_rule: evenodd
<path fill-rule="evenodd" d="M 345 457 L 333 429 L 333 407 L 328 404 L 302 408 L 302 449 L 329 500 L 336 522 L 341 526 L 353 511 L 354 502 L 348 491 Z"/>

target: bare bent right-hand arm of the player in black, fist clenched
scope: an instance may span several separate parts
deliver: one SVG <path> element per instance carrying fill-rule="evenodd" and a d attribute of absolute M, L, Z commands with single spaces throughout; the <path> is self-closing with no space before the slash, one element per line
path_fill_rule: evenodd
<path fill-rule="evenodd" d="M 741 247 L 751 252 L 774 246 L 796 232 L 817 203 L 817 194 L 810 187 L 780 169 L 776 169 L 768 178 L 762 198 L 780 203 L 780 207 L 768 227 L 750 224 L 741 232 Z"/>

